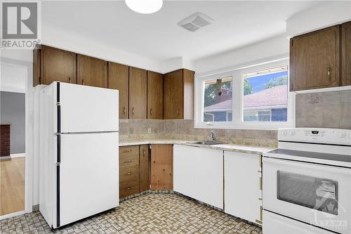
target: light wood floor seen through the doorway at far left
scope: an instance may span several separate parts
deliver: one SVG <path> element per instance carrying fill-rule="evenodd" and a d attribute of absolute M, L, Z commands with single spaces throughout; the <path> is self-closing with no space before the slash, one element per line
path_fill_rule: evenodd
<path fill-rule="evenodd" d="M 25 157 L 0 161 L 0 216 L 25 209 Z"/>

